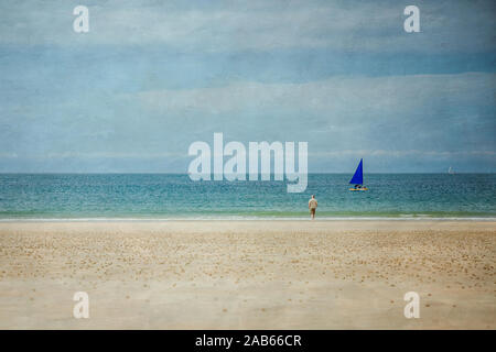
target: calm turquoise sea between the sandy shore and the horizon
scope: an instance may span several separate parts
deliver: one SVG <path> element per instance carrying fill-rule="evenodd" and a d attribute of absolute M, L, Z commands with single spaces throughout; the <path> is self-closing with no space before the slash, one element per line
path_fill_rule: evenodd
<path fill-rule="evenodd" d="M 0 219 L 493 218 L 496 174 L 311 174 L 303 194 L 282 182 L 192 182 L 173 174 L 2 174 Z"/>

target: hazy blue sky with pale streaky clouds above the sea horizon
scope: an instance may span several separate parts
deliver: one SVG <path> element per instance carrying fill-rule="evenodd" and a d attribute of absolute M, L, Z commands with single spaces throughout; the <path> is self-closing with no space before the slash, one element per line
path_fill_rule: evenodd
<path fill-rule="evenodd" d="M 495 173 L 495 15 L 494 0 L 2 0 L 0 172 L 186 173 L 190 144 L 222 132 L 308 142 L 310 172 Z"/>

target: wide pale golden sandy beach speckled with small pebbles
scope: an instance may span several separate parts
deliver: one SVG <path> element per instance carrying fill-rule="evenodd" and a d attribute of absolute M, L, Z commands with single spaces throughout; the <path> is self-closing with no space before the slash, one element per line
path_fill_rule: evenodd
<path fill-rule="evenodd" d="M 2 222 L 0 329 L 495 329 L 495 260 L 492 221 Z"/>

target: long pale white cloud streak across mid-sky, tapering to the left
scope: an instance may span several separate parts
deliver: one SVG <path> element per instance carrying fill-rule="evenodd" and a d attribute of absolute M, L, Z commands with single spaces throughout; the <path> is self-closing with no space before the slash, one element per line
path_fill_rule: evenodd
<path fill-rule="evenodd" d="M 293 109 L 342 121 L 354 114 L 414 112 L 439 101 L 476 101 L 493 106 L 495 85 L 496 75 L 481 73 L 332 77 L 304 84 L 234 82 L 214 88 L 143 91 L 138 94 L 138 99 L 144 108 L 163 113 L 218 114 L 255 108 L 267 111 Z"/>

